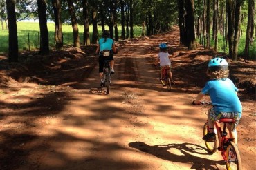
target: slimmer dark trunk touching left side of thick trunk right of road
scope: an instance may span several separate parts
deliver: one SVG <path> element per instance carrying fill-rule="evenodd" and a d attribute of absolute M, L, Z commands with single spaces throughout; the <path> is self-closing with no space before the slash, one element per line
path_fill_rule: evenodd
<path fill-rule="evenodd" d="M 180 43 L 185 45 L 185 21 L 184 21 L 184 1 L 178 0 L 179 8 L 179 28 L 180 28 Z"/>

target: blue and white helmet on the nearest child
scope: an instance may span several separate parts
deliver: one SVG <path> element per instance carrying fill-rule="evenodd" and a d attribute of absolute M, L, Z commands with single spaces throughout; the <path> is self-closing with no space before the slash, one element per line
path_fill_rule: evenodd
<path fill-rule="evenodd" d="M 228 69 L 228 62 L 225 59 L 222 58 L 214 58 L 211 59 L 208 63 L 208 69 L 211 72 L 217 71 L 217 70 L 227 70 Z"/>

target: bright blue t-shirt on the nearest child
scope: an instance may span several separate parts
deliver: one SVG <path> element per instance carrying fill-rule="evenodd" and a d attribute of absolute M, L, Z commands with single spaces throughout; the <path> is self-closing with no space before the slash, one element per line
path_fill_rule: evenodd
<path fill-rule="evenodd" d="M 229 78 L 208 81 L 201 93 L 209 94 L 217 112 L 242 112 L 241 102 L 235 92 L 238 89 Z"/>

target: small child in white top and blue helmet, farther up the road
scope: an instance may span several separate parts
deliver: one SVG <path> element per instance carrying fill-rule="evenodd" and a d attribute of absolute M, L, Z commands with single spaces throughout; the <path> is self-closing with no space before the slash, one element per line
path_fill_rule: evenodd
<path fill-rule="evenodd" d="M 171 62 L 172 62 L 172 59 L 170 58 L 170 55 L 167 52 L 167 45 L 166 45 L 166 43 L 160 43 L 159 44 L 159 48 L 160 48 L 160 52 L 158 53 L 158 56 L 156 57 L 155 65 L 158 65 L 158 63 L 160 64 L 160 68 L 161 68 L 160 78 L 161 79 L 163 78 L 162 70 L 164 68 L 168 68 L 169 69 L 168 75 L 169 75 L 169 77 L 171 79 L 171 82 L 174 83 L 172 81 L 172 72 L 171 72 Z"/>

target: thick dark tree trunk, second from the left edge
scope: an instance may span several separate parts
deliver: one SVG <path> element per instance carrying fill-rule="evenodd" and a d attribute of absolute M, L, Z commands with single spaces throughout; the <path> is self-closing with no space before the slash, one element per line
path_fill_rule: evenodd
<path fill-rule="evenodd" d="M 46 1 L 37 0 L 40 27 L 40 54 L 49 54 L 49 33 L 47 28 Z"/>

